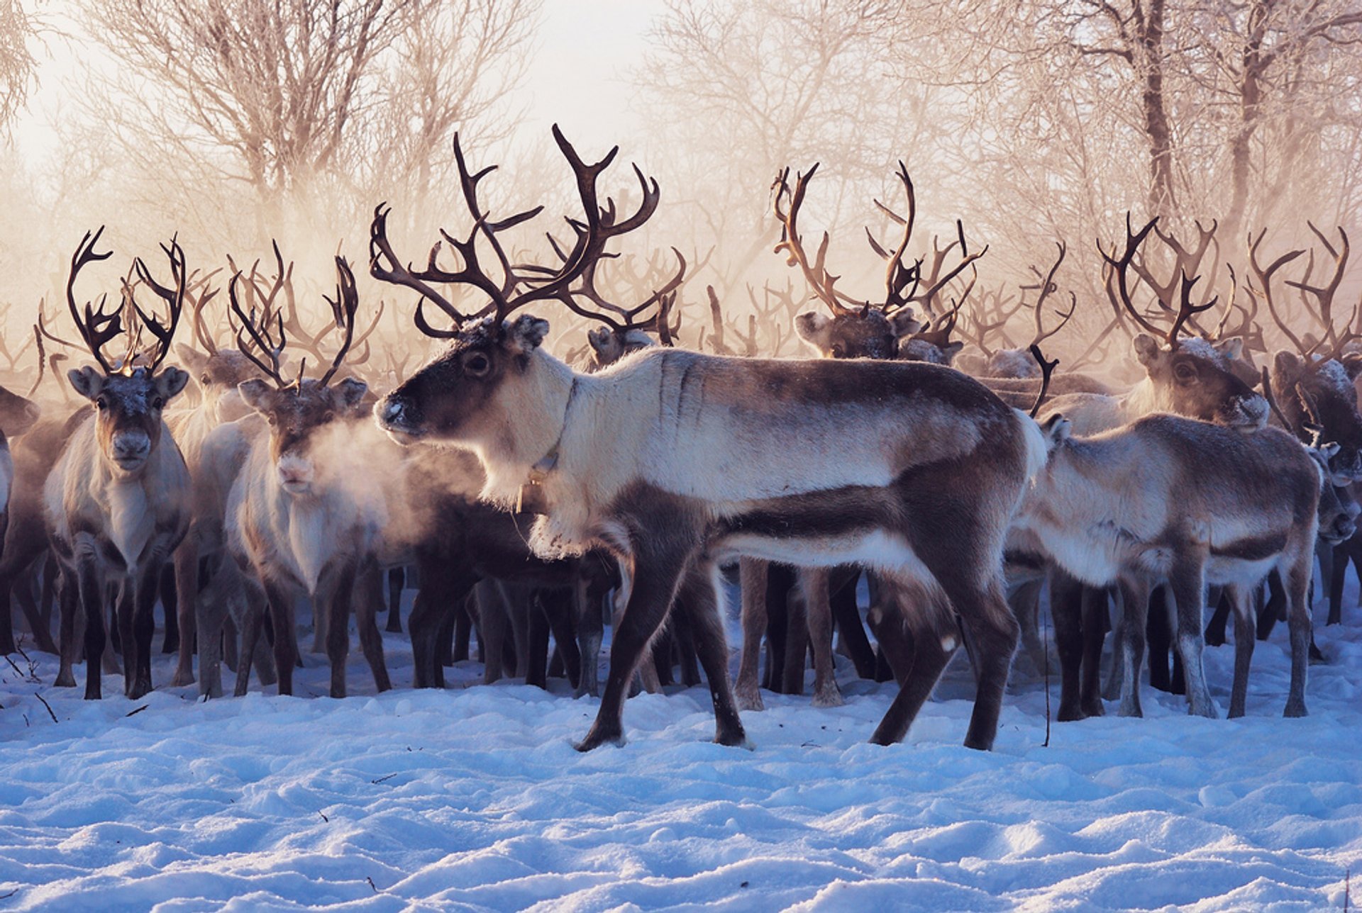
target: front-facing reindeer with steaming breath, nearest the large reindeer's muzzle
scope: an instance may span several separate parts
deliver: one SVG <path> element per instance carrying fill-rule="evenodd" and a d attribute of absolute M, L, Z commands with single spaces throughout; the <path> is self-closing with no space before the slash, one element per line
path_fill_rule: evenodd
<path fill-rule="evenodd" d="M 232 310 L 241 324 L 237 347 L 274 385 L 249 380 L 238 388 L 245 403 L 266 418 L 270 433 L 255 438 L 232 486 L 226 533 L 229 550 L 242 570 L 259 580 L 268 601 L 279 694 L 293 694 L 294 601 L 301 596 L 309 596 L 315 614 L 327 619 L 331 697 L 346 693 L 351 603 L 365 660 L 375 684 L 385 691 L 390 683 L 375 620 L 377 605 L 364 597 L 365 589 L 360 599 L 354 599 L 354 591 L 360 574 L 376 573 L 375 551 L 387 522 L 387 494 L 376 479 L 353 483 L 365 468 L 351 457 L 358 453 L 357 460 L 362 460 L 362 454 L 373 452 L 358 446 L 364 427 L 355 427 L 366 385 L 353 378 L 331 384 L 354 340 L 360 306 L 354 276 L 346 261 L 336 257 L 336 298 L 328 303 L 343 335 L 339 351 L 320 378 L 305 378 L 304 362 L 294 381 L 281 374 L 286 346 L 283 317 L 278 312 L 257 317 L 242 310 L 236 294 L 238 280 L 240 276 L 233 276 L 227 287 Z M 242 665 L 249 661 L 257 635 L 256 622 L 244 633 Z"/>

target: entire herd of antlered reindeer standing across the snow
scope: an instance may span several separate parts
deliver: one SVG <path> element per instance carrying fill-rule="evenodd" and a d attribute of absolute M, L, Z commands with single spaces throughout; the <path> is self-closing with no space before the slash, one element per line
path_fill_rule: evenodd
<path fill-rule="evenodd" d="M 475 630 L 486 680 L 513 663 L 542 686 L 557 667 L 594 695 L 609 615 L 609 674 L 582 750 L 620 743 L 631 688 L 659 687 L 676 663 L 689 684 L 703 668 L 723 744 L 745 743 L 740 709 L 761 708 L 761 684 L 802 691 L 810 653 L 814 703 L 838 705 L 835 633 L 858 674 L 898 680 L 872 736 L 881 744 L 904 737 L 964 646 L 978 686 L 966 744 L 989 748 L 1019 641 L 1047 665 L 1047 596 L 1060 720 L 1100 714 L 1103 698 L 1140 716 L 1145 665 L 1192 713 L 1216 716 L 1201 653 L 1231 616 L 1230 714 L 1248 710 L 1254 640 L 1278 619 L 1291 646 L 1286 716 L 1306 713 L 1314 562 L 1335 622 L 1358 561 L 1362 327 L 1358 309 L 1333 314 L 1342 229 L 1337 242 L 1314 231 L 1333 261 L 1323 282 L 1313 248 L 1301 272 L 1303 250 L 1264 265 L 1265 235 L 1250 238 L 1250 302 L 1218 310 L 1197 294 L 1211 284 L 1200 271 L 1216 268 L 1215 226 L 1184 244 L 1128 219 L 1124 248 L 1099 245 L 1110 309 L 1084 314 L 1098 317 L 1073 359 L 1087 370 L 1058 371 L 1041 344 L 1079 309 L 1073 293 L 1066 309 L 1050 301 L 1065 245 L 1020 301 L 977 290 L 987 248 L 971 249 L 959 223 L 944 248 L 908 253 L 917 199 L 900 166 L 906 214 L 876 201 L 902 237 L 870 235 L 887 264 L 872 303 L 838 287 L 825 233 L 805 248 L 816 169 L 793 186 L 785 171 L 776 252 L 808 295 L 768 287 L 763 306 L 749 290 L 744 332 L 711 286 L 712 328 L 686 348 L 678 250 L 674 276 L 633 299 L 602 278 L 612 242 L 658 208 L 656 182 L 635 167 L 639 203 L 621 211 L 597 188 L 617 150 L 587 162 L 557 128 L 554 140 L 582 210 L 568 242 L 549 238 L 552 263 L 508 246 L 541 208 L 493 218 L 479 199 L 493 169 L 471 171 L 458 140 L 466 234 L 441 231 L 417 267 L 388 237 L 388 207 L 375 211 L 369 272 L 414 293 L 413 322 L 441 343 L 410 374 L 391 355 L 388 370 L 370 365 L 383 306 L 366 320 L 342 257 L 328 320 L 311 332 L 278 246 L 272 276 L 229 261 L 222 283 L 191 272 L 172 239 L 166 284 L 135 259 L 110 306 L 76 294 L 82 269 L 113 256 L 98 249 L 102 229 L 86 234 L 65 287 L 78 340 L 39 316 L 38 381 L 0 395 L 0 648 L 15 648 L 16 603 L 37 648 L 60 656 L 57 686 L 75 687 L 83 659 L 84 697 L 98 699 L 101 674 L 121 663 L 139 698 L 154 687 L 159 604 L 163 649 L 178 653 L 172 684 L 219 695 L 226 663 L 238 695 L 252 671 L 291 694 L 306 601 L 332 697 L 346 694 L 351 615 L 383 691 L 380 611 L 400 630 L 411 584 L 415 687 L 443 687 Z M 809 297 L 821 310 L 795 313 Z M 549 354 L 550 324 L 526 312 L 550 303 L 592 327 L 576 366 Z M 1261 369 L 1260 305 L 1294 347 Z M 192 344 L 174 344 L 181 322 Z M 1028 343 L 1009 336 L 1017 322 L 1034 325 Z M 795 336 L 819 358 L 759 356 Z M 1122 336 L 1137 377 L 1111 370 Z M 44 361 L 45 340 L 95 366 L 60 389 L 65 355 Z M 63 408 L 72 391 L 87 401 L 75 411 Z M 744 641 L 730 684 L 720 593 L 734 569 Z"/>

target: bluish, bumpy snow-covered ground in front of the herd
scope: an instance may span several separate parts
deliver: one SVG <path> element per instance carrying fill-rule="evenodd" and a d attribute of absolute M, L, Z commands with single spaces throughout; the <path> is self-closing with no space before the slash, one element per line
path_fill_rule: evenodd
<path fill-rule="evenodd" d="M 0 683 L 0 908 L 1340 909 L 1362 869 L 1347 608 L 1318 630 L 1332 663 L 1309 718 L 1280 717 L 1278 626 L 1246 718 L 1189 718 L 1145 688 L 1144 720 L 1056 724 L 1047 748 L 1020 659 L 992 754 L 960 746 L 963 657 L 900 746 L 865 743 L 891 687 L 842 668 L 844 708 L 767 695 L 744 714 L 753 751 L 708 742 L 692 688 L 631 699 L 628 746 L 580 755 L 595 701 L 473 684 L 477 664 L 413 691 L 391 634 L 398 690 L 373 695 L 355 645 L 343 701 L 309 656 L 301 697 L 132 703 L 106 676 L 113 697 L 87 703 L 30 653 L 41 684 L 20 657 Z M 1233 648 L 1207 669 L 1223 713 Z"/>

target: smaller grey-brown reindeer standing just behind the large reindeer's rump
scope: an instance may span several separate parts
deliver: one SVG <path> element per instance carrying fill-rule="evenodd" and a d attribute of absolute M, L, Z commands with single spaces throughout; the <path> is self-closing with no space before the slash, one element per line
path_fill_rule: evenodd
<path fill-rule="evenodd" d="M 1332 491 L 1317 457 L 1276 429 L 1246 435 L 1173 415 L 1088 438 L 1071 437 L 1056 415 L 1045 431 L 1050 457 L 1013 520 L 1013 542 L 1041 550 L 1090 586 L 1120 586 L 1121 716 L 1141 714 L 1137 676 L 1154 585 L 1167 584 L 1175 605 L 1192 713 L 1215 717 L 1201 669 L 1204 588 L 1226 586 L 1239 630 L 1249 619 L 1252 631 L 1248 596 L 1271 570 L 1286 582 L 1291 626 L 1284 714 L 1305 716 L 1312 554 L 1321 490 Z M 1054 605 L 1060 611 L 1062 601 Z M 1073 637 L 1076 623 L 1056 627 L 1061 706 L 1073 713 L 1081 640 Z M 1230 716 L 1244 714 L 1252 650 L 1252 633 L 1237 638 Z"/>

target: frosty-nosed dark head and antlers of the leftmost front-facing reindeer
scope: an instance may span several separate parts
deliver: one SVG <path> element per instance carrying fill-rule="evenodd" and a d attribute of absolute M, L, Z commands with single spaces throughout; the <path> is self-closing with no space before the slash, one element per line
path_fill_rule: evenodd
<path fill-rule="evenodd" d="M 112 250 L 105 253 L 94 250 L 102 233 L 104 227 L 93 237 L 89 231 L 86 233 L 80 246 L 71 257 L 71 272 L 67 279 L 67 303 L 71 309 L 71 317 L 75 320 L 86 347 L 99 362 L 99 367 L 80 367 L 68 371 L 67 377 L 71 380 L 71 386 L 90 400 L 95 410 L 95 437 L 105 460 L 116 467 L 117 474 L 136 475 L 146 467 L 151 453 L 161 442 L 163 427 L 161 415 L 166 403 L 189 381 L 189 376 L 178 367 L 157 371 L 170 351 L 170 340 L 184 306 L 184 250 L 174 239 L 170 241 L 169 246 L 161 246 L 170 259 L 170 272 L 174 278 L 173 288 L 157 283 L 146 264 L 138 257 L 132 261 L 132 275 L 123 283 L 121 306 L 113 312 L 105 312 L 104 305 L 108 298 L 105 295 L 99 299 L 98 310 L 91 303 L 86 303 L 82 317 L 82 310 L 76 308 L 75 302 L 76 273 L 87 263 L 108 260 L 113 256 Z M 166 302 L 170 309 L 169 327 L 158 322 L 138 305 L 135 297 L 138 284 L 148 286 L 158 298 Z M 147 329 L 155 336 L 157 342 L 150 351 L 140 348 L 142 329 Z M 128 337 L 127 354 L 121 359 L 106 359 L 104 347 L 124 335 Z"/>

